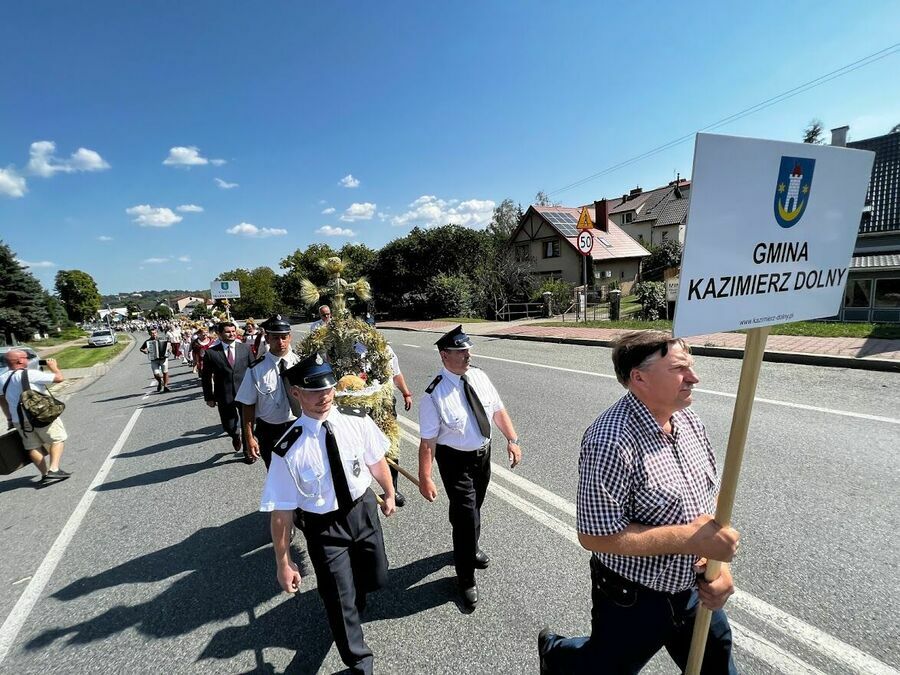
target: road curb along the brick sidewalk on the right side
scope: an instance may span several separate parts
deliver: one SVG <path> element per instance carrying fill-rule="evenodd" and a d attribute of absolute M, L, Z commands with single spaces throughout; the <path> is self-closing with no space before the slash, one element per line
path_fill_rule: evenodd
<path fill-rule="evenodd" d="M 433 331 L 419 330 L 400 326 L 391 326 L 387 330 L 404 330 L 411 333 L 430 333 Z M 526 342 L 551 342 L 564 345 L 582 345 L 585 347 L 612 347 L 613 340 L 595 340 L 591 338 L 569 338 L 562 336 L 545 335 L 516 335 L 516 334 L 491 334 L 478 335 L 476 337 L 493 338 L 495 340 L 523 340 Z M 713 347 L 706 345 L 691 345 L 691 353 L 697 356 L 715 356 L 725 359 L 740 359 L 744 356 L 744 350 L 734 347 Z M 853 356 L 831 356 L 829 354 L 810 354 L 807 352 L 775 352 L 767 351 L 764 361 L 773 363 L 795 363 L 803 366 L 825 366 L 826 368 L 852 368 L 854 370 L 875 370 L 880 372 L 900 373 L 900 361 L 892 359 L 856 358 Z"/>

